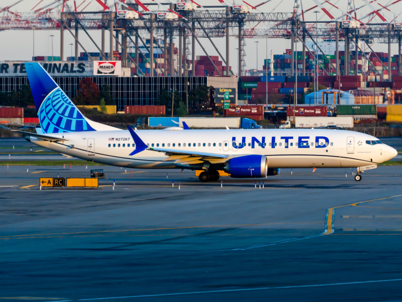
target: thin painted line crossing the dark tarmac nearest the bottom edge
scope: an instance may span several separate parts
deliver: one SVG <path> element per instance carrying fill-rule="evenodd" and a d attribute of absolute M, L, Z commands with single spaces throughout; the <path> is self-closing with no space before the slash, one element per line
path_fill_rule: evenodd
<path fill-rule="evenodd" d="M 320 286 L 339 286 L 339 285 L 379 283 L 379 282 L 395 282 L 395 281 L 402 281 L 402 279 L 370 280 L 370 281 L 311 284 L 311 285 L 294 285 L 294 286 L 279 286 L 279 287 L 257 287 L 257 288 L 241 288 L 241 289 L 208 290 L 208 291 L 189 291 L 189 292 L 161 293 L 161 294 L 144 294 L 144 295 L 133 295 L 133 296 L 121 296 L 121 297 L 78 299 L 78 301 L 93 301 L 93 300 L 107 300 L 107 299 L 127 299 L 127 298 L 145 298 L 145 297 L 162 297 L 162 296 L 198 294 L 198 293 L 219 293 L 219 292 L 235 292 L 235 291 L 250 291 L 250 290 L 267 290 L 267 289 L 286 289 L 286 288 L 306 288 L 306 287 L 320 287 Z M 56 302 L 61 302 L 61 301 L 56 301 Z"/>

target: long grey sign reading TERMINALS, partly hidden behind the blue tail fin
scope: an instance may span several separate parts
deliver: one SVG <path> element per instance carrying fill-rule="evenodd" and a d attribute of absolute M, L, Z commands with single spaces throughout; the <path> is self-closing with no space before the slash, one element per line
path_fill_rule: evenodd
<path fill-rule="evenodd" d="M 0 62 L 0 77 L 26 77 L 25 62 Z M 91 62 L 40 62 L 52 77 L 87 77 L 92 75 Z"/>

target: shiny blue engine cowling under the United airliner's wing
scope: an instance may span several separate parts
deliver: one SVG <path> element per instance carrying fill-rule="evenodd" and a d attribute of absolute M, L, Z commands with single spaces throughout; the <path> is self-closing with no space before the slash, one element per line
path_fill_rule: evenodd
<path fill-rule="evenodd" d="M 265 177 L 268 174 L 268 160 L 263 155 L 246 155 L 233 158 L 224 168 L 234 178 Z"/>

